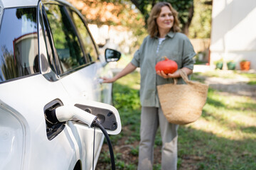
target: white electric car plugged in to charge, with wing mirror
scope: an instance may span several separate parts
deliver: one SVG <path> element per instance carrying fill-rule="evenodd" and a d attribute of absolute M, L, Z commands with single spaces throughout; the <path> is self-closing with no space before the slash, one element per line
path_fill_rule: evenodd
<path fill-rule="evenodd" d="M 0 169 L 95 167 L 104 135 L 89 124 L 95 117 L 109 134 L 121 130 L 112 84 L 100 79 L 119 57 L 99 55 L 65 1 L 0 0 Z"/>

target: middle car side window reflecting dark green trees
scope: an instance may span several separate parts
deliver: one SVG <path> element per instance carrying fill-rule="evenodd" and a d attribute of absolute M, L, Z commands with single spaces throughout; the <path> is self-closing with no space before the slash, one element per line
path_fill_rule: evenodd
<path fill-rule="evenodd" d="M 45 4 L 53 42 L 63 73 L 86 64 L 75 29 L 65 11 L 65 6 Z"/>

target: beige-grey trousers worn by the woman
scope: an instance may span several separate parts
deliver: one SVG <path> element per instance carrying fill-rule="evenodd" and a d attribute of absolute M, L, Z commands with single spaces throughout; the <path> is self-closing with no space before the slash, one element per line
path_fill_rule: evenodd
<path fill-rule="evenodd" d="M 160 127 L 162 139 L 161 169 L 177 169 L 178 125 L 169 123 L 161 108 L 142 107 L 138 170 L 153 169 L 154 140 L 158 127 Z"/>

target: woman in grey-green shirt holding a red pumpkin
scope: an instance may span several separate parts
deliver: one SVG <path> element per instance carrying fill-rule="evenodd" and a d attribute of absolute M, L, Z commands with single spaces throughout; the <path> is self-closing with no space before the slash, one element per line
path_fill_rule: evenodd
<path fill-rule="evenodd" d="M 186 74 L 193 72 L 193 60 L 196 55 L 191 42 L 186 35 L 178 33 L 178 13 L 166 2 L 157 3 L 148 19 L 149 35 L 144 39 L 141 47 L 135 52 L 132 62 L 127 64 L 119 74 L 112 79 L 103 78 L 105 83 L 111 83 L 140 67 L 142 103 L 141 141 L 139 143 L 138 169 L 152 169 L 154 159 L 154 139 L 158 127 L 161 129 L 162 152 L 161 169 L 176 169 L 178 125 L 169 123 L 163 115 L 156 86 L 173 83 L 178 78 L 178 84 L 183 84 L 178 70 L 173 74 L 156 72 L 157 62 L 166 56 L 178 64 Z"/>

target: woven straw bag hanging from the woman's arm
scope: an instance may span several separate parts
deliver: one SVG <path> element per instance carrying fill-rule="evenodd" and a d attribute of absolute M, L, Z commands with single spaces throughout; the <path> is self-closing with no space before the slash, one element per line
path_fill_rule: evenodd
<path fill-rule="evenodd" d="M 186 125 L 198 120 L 206 103 L 208 85 L 190 81 L 180 69 L 186 84 L 164 84 L 157 86 L 162 111 L 170 123 Z"/>

